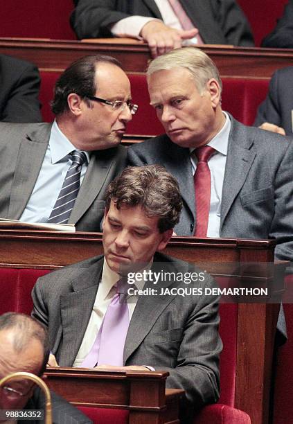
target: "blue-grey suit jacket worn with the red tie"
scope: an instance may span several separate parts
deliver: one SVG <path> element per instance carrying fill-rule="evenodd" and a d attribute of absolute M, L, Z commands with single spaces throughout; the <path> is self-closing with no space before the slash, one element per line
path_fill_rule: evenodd
<path fill-rule="evenodd" d="M 293 142 L 231 116 L 220 237 L 276 239 L 276 258 L 293 260 Z M 161 164 L 177 179 L 184 210 L 175 232 L 193 236 L 195 192 L 188 148 L 168 136 L 128 149 L 130 165 Z"/>

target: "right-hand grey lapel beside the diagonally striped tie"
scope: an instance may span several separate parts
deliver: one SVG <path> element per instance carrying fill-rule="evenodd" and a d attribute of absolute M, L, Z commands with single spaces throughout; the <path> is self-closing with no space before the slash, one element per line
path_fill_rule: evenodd
<path fill-rule="evenodd" d="M 69 222 L 78 222 L 98 196 L 116 157 L 116 151 L 111 149 L 92 152 Z"/>

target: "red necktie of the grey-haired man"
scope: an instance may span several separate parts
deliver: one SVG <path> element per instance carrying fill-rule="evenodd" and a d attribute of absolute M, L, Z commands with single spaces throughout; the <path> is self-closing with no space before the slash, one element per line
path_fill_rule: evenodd
<path fill-rule="evenodd" d="M 208 160 L 215 152 L 209 145 L 195 149 L 197 168 L 193 181 L 195 183 L 196 237 L 206 237 L 208 231 L 208 213 L 211 204 L 211 171 Z"/>

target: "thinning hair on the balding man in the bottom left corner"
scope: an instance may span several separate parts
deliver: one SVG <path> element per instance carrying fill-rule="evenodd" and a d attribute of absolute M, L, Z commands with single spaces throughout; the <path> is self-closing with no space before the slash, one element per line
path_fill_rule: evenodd
<path fill-rule="evenodd" d="M 42 324 L 36 319 L 25 314 L 17 312 L 6 312 L 0 315 L 0 331 L 12 330 L 13 340 L 12 346 L 16 353 L 21 353 L 29 346 L 31 339 L 37 339 L 42 344 L 44 350 L 44 358 L 39 376 L 42 376 L 46 369 L 50 348 L 48 346 L 48 333 Z"/>

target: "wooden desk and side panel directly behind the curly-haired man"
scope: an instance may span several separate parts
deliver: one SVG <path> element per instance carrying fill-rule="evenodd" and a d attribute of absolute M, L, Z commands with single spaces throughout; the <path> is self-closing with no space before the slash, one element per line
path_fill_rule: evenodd
<path fill-rule="evenodd" d="M 166 254 L 197 263 L 215 276 L 251 285 L 283 283 L 283 264 L 273 265 L 273 240 L 174 237 Z M 56 269 L 103 253 L 101 233 L 0 231 L 1 267 Z M 251 266 L 255 263 L 256 266 Z M 249 266 L 248 266 L 249 265 Z M 267 424 L 278 303 L 238 305 L 235 407 L 253 424 Z"/>

